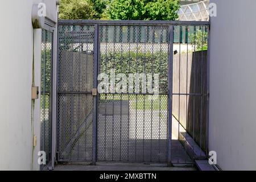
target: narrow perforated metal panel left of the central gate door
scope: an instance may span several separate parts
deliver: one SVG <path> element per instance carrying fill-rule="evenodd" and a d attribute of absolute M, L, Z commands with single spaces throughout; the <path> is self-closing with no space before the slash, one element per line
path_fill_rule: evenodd
<path fill-rule="evenodd" d="M 59 26 L 57 152 L 92 160 L 94 26 Z"/>

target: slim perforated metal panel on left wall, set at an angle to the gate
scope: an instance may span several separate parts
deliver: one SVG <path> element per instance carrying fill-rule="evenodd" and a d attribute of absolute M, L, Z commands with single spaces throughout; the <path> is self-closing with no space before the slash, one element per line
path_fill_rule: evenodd
<path fill-rule="evenodd" d="M 46 164 L 51 160 L 52 36 L 52 32 L 42 30 L 40 151 L 46 152 Z M 42 169 L 44 167 L 41 166 Z"/>

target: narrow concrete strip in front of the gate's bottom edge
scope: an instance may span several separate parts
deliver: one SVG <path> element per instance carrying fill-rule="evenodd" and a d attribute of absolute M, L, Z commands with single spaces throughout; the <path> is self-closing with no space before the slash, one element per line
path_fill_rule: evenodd
<path fill-rule="evenodd" d="M 196 171 L 195 167 L 167 167 L 164 164 L 141 163 L 62 163 L 55 166 L 55 171 Z"/>

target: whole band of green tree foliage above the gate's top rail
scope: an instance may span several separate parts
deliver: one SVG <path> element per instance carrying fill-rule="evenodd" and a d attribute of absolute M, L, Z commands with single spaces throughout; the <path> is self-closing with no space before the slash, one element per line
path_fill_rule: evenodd
<path fill-rule="evenodd" d="M 60 19 L 175 20 L 180 0 L 61 0 Z"/>

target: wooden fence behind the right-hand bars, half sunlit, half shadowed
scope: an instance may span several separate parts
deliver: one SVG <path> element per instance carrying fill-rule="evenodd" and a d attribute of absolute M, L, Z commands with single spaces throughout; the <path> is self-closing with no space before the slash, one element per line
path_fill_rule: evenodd
<path fill-rule="evenodd" d="M 207 151 L 207 51 L 174 55 L 173 79 L 173 93 L 181 95 L 173 96 L 172 114 L 195 142 Z"/>

